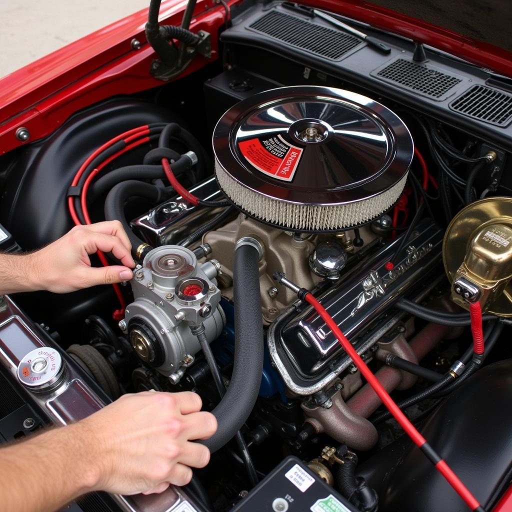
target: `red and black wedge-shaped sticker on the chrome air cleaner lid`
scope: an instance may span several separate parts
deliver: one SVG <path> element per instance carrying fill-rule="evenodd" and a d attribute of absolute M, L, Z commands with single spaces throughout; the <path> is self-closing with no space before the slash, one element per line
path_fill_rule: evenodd
<path fill-rule="evenodd" d="M 283 181 L 293 180 L 303 152 L 302 147 L 291 145 L 281 135 L 244 140 L 238 146 L 253 167 Z"/>

